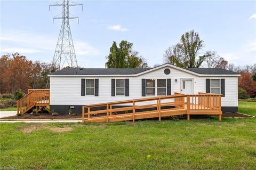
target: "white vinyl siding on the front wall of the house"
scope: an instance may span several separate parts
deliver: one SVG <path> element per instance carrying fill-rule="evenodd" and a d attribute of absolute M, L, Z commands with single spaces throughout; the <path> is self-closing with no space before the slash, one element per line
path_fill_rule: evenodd
<path fill-rule="evenodd" d="M 164 69 L 169 68 L 171 73 L 164 74 Z M 81 78 L 99 79 L 99 96 L 81 96 Z M 69 76 L 69 77 L 50 77 L 50 104 L 57 105 L 86 105 L 93 103 L 111 102 L 119 100 L 131 100 L 138 98 L 147 98 L 150 96 L 141 96 L 141 79 L 172 79 L 171 94 L 180 92 L 181 79 L 193 79 L 194 94 L 206 92 L 206 79 L 225 79 L 225 98 L 221 98 L 222 106 L 237 107 L 237 77 L 198 77 L 188 72 L 184 72 L 172 67 L 163 67 L 137 77 L 86 77 L 86 76 Z M 111 79 L 129 78 L 129 96 L 111 96 Z M 177 79 L 177 83 L 175 82 Z M 156 85 L 157 86 L 157 85 Z M 140 103 L 138 103 L 140 104 Z"/>

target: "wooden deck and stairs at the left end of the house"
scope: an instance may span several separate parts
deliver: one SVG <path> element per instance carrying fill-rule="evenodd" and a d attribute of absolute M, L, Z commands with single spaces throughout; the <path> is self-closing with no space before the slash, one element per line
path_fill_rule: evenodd
<path fill-rule="evenodd" d="M 25 114 L 26 112 L 36 109 L 36 112 L 50 106 L 50 90 L 49 89 L 29 89 L 28 94 L 17 101 L 17 114 Z"/>

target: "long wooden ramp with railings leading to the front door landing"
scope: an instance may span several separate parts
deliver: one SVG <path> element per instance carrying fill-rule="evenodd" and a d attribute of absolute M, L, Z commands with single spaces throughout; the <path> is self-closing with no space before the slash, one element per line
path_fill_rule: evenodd
<path fill-rule="evenodd" d="M 161 120 L 162 117 L 178 115 L 187 115 L 188 120 L 190 115 L 219 115 L 219 120 L 221 120 L 221 95 L 174 93 L 174 95 L 83 106 L 83 123 L 125 120 L 134 122 L 147 118 Z M 85 119 L 86 116 L 87 119 Z"/>

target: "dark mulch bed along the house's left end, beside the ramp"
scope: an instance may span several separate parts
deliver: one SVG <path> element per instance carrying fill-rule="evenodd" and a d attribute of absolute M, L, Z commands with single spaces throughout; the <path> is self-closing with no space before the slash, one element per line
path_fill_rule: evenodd
<path fill-rule="evenodd" d="M 87 118 L 87 115 L 85 115 Z M 52 116 L 47 113 L 44 114 L 39 114 L 39 116 L 35 116 L 33 114 L 23 114 L 21 116 L 9 116 L 9 117 L 3 117 L 1 119 L 82 119 L 82 115 L 75 115 L 75 116 L 70 116 L 70 115 L 59 115 L 59 116 Z"/>

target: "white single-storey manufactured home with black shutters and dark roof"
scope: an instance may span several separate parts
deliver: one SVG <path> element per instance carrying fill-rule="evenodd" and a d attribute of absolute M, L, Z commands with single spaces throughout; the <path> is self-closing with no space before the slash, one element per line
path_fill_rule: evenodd
<path fill-rule="evenodd" d="M 174 93 L 207 93 L 221 95 L 218 101 L 222 112 L 236 112 L 238 76 L 236 72 L 220 68 L 184 69 L 172 64 L 155 68 L 67 68 L 49 75 L 50 108 L 60 114 L 68 114 L 69 110 L 82 113 L 83 106 L 90 104 L 160 99 Z"/>

